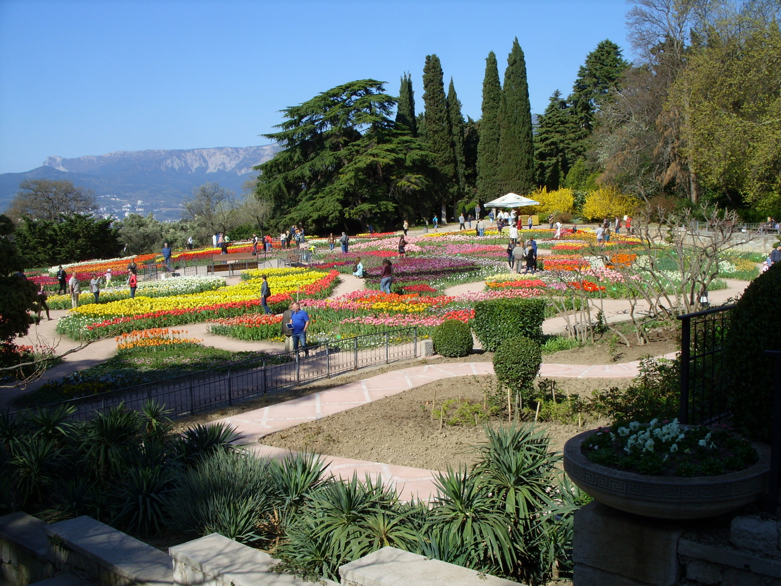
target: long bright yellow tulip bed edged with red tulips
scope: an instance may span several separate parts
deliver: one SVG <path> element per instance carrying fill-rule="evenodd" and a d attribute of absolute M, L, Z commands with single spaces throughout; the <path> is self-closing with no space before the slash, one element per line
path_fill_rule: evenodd
<path fill-rule="evenodd" d="M 291 295 L 324 298 L 337 284 L 338 271 L 328 273 L 307 269 L 269 269 L 269 286 L 273 295 L 269 306 L 287 308 Z M 57 331 L 76 340 L 101 338 L 150 327 L 177 326 L 245 313 L 262 312 L 260 279 L 214 291 L 162 298 L 139 297 L 109 303 L 98 303 L 72 309 L 57 324 Z"/>

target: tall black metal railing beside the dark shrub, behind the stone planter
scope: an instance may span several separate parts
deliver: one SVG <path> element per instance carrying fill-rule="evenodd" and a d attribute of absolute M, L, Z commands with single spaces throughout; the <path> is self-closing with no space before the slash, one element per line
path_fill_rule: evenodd
<path fill-rule="evenodd" d="M 729 416 L 724 337 L 729 330 L 729 310 L 714 307 L 678 316 L 681 320 L 681 423 L 711 425 Z"/>

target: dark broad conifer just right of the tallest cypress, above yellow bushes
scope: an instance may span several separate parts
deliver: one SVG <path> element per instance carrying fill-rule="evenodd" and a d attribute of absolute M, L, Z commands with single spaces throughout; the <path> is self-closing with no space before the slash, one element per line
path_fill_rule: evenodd
<path fill-rule="evenodd" d="M 537 118 L 537 134 L 534 135 L 537 185 L 544 185 L 549 190 L 558 189 L 574 163 L 569 159 L 569 145 L 577 131 L 562 92 L 556 90 L 545 112 Z"/>

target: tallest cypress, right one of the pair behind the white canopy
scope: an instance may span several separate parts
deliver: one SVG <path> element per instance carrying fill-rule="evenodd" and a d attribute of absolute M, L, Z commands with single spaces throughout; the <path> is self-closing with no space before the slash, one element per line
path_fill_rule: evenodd
<path fill-rule="evenodd" d="M 534 143 L 526 59 L 518 39 L 507 57 L 499 102 L 499 181 L 503 191 L 523 194 L 534 184 Z"/>

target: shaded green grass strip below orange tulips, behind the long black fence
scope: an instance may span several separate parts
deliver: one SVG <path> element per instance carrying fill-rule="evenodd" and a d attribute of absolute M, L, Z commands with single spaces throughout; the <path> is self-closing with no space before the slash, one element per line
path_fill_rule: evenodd
<path fill-rule="evenodd" d="M 16 406 L 35 406 L 96 395 L 117 388 L 131 387 L 162 379 L 219 368 L 263 356 L 262 352 L 229 352 L 219 348 L 187 344 L 180 348 L 123 351 L 105 363 L 91 366 L 44 384 L 28 395 L 17 398 Z"/>

